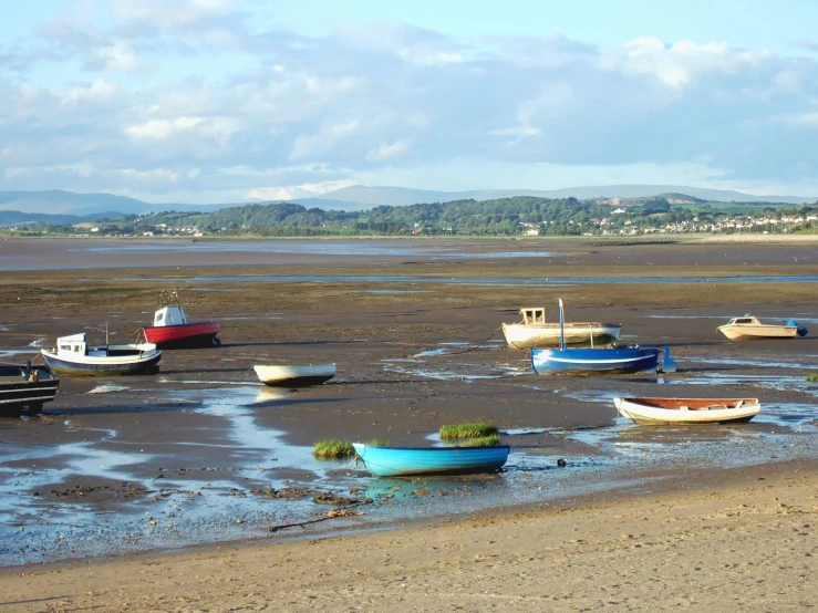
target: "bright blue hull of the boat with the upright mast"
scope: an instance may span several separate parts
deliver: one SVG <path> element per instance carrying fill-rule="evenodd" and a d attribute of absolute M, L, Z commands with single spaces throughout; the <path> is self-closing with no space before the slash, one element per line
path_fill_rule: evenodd
<path fill-rule="evenodd" d="M 659 366 L 659 351 L 655 347 L 532 349 L 531 367 L 538 375 L 655 373 Z"/>

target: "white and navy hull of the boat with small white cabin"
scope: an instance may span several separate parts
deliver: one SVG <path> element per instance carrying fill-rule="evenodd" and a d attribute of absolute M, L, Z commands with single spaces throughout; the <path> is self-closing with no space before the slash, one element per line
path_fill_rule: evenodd
<path fill-rule="evenodd" d="M 130 345 L 127 345 L 130 346 Z M 138 345 L 135 345 L 138 346 Z M 153 345 L 151 345 L 153 347 Z M 146 350 L 117 350 L 110 355 L 80 355 L 68 357 L 65 354 L 40 350 L 42 356 L 55 372 L 74 376 L 115 376 L 144 375 L 158 372 L 162 352 L 156 347 Z M 94 350 L 92 351 L 102 351 Z"/>

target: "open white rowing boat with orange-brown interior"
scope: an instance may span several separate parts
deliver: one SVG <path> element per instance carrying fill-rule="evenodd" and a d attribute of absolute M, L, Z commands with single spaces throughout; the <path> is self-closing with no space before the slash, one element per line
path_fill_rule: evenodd
<path fill-rule="evenodd" d="M 642 426 L 686 426 L 749 422 L 758 398 L 613 398 L 623 417 Z"/>

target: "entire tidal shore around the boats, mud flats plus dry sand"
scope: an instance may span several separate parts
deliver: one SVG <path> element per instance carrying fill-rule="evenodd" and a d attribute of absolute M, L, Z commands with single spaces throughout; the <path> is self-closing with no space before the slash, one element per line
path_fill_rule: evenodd
<path fill-rule="evenodd" d="M 0 611 L 788 611 L 814 576 L 814 243 L 570 240 L 0 242 L 0 351 L 128 342 L 162 289 L 222 345 L 154 376 L 63 377 L 0 423 Z M 501 322 L 566 301 L 670 346 L 655 376 L 538 377 Z M 793 341 L 731 343 L 752 312 Z M 334 363 L 272 391 L 257 363 Z M 744 396 L 741 427 L 642 428 L 615 395 Z M 315 440 L 429 445 L 484 419 L 485 478 L 379 480 Z M 557 459 L 567 459 L 565 468 Z M 323 506 L 324 493 L 354 503 Z M 332 519 L 328 513 L 343 511 Z"/>

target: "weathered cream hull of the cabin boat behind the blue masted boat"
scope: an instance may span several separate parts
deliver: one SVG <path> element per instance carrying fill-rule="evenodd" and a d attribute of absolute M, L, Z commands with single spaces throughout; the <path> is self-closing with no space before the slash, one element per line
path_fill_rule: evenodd
<path fill-rule="evenodd" d="M 619 339 L 621 330 L 622 326 L 618 323 L 567 323 L 566 344 L 607 345 Z M 508 346 L 515 350 L 558 347 L 560 344 L 559 323 L 504 323 L 503 334 Z"/>

